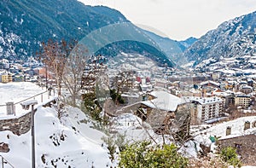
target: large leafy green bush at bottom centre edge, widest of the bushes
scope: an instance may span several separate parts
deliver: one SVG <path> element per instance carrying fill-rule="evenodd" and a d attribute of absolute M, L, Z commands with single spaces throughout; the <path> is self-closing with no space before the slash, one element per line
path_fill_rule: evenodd
<path fill-rule="evenodd" d="M 188 159 L 177 153 L 174 144 L 152 147 L 150 142 L 137 142 L 126 146 L 119 154 L 119 167 L 124 168 L 183 168 Z"/>

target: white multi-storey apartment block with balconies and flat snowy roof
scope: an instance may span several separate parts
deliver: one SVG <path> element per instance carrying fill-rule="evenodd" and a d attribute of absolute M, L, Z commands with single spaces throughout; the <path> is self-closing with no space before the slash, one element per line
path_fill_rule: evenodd
<path fill-rule="evenodd" d="M 223 100 L 219 97 L 189 97 L 190 102 L 195 104 L 195 113 L 192 117 L 199 122 L 216 119 L 223 113 Z"/>

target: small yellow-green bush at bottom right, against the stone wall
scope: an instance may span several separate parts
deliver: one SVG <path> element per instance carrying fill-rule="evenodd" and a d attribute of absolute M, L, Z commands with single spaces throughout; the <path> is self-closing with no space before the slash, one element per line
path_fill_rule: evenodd
<path fill-rule="evenodd" d="M 241 161 L 238 159 L 236 154 L 236 148 L 227 147 L 220 151 L 220 157 L 224 162 L 235 167 L 241 167 Z"/>

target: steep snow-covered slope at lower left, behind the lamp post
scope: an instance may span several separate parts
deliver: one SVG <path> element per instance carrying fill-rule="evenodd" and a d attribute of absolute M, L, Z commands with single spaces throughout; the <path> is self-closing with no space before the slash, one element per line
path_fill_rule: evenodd
<path fill-rule="evenodd" d="M 90 128 L 92 124 L 79 109 L 67 108 L 68 116 L 60 120 L 54 107 L 39 107 L 35 114 L 36 167 L 109 167 L 108 149 L 102 145 L 104 134 Z M 84 121 L 84 122 L 82 122 Z M 15 167 L 31 166 L 31 132 L 15 136 L 0 132 L 1 142 L 9 144 L 3 157 Z"/>

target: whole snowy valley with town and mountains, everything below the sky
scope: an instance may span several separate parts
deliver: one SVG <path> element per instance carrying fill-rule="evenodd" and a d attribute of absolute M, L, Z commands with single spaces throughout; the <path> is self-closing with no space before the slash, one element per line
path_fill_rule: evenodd
<path fill-rule="evenodd" d="M 2 167 L 256 166 L 256 12 L 177 41 L 76 0 L 0 9 Z"/>

